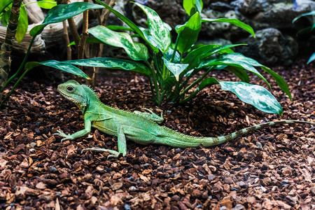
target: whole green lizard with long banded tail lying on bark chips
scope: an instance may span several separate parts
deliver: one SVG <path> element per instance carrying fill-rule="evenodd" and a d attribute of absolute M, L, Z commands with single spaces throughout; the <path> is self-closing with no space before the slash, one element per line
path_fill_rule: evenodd
<path fill-rule="evenodd" d="M 230 141 L 231 139 L 235 139 L 262 127 L 285 123 L 315 125 L 315 123 L 307 121 L 279 120 L 247 127 L 221 137 L 192 137 L 158 125 L 158 123 L 162 123 L 163 121 L 162 115 L 157 116 L 148 109 L 146 110 L 150 113 L 131 113 L 129 111 L 106 106 L 100 102 L 94 90 L 86 85 L 80 85 L 75 80 L 69 80 L 66 83 L 58 85 L 58 91 L 66 99 L 76 104 L 80 111 L 83 112 L 85 128 L 71 135 L 64 134 L 64 132 L 59 130 L 57 130 L 55 134 L 62 137 L 62 141 L 66 139 L 77 139 L 90 133 L 91 127 L 95 127 L 101 132 L 114 135 L 118 137 L 118 151 L 105 148 L 85 148 L 83 150 L 107 152 L 111 154 L 108 158 L 117 158 L 120 153 L 122 153 L 123 156 L 127 154 L 126 138 L 143 145 L 164 144 L 179 148 L 189 148 L 198 147 L 202 144 L 205 147 L 209 147 Z"/>

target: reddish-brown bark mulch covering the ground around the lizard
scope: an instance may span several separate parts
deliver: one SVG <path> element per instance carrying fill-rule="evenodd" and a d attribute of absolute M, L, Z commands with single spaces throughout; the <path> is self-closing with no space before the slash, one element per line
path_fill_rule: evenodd
<path fill-rule="evenodd" d="M 193 101 L 156 107 L 148 80 L 137 73 L 101 76 L 102 102 L 128 111 L 148 108 L 183 134 L 214 137 L 270 120 L 315 120 L 315 68 L 304 61 L 274 71 L 288 82 L 293 102 L 274 81 L 283 116 L 262 113 L 218 86 Z M 236 80 L 215 71 L 219 80 Z M 255 76 L 252 83 L 265 85 Z M 258 130 L 212 148 L 141 146 L 127 156 L 81 153 L 117 150 L 116 137 L 92 130 L 64 141 L 52 134 L 83 129 L 80 111 L 57 84 L 28 78 L 0 110 L 0 209 L 315 209 L 315 135 L 309 125 Z"/>

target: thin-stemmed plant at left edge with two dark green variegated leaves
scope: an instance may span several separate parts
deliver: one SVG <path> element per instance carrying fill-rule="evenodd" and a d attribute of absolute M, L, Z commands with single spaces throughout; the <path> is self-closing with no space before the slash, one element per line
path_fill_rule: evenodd
<path fill-rule="evenodd" d="M 5 77 L 0 77 L 1 79 L 1 83 L 4 83 L 5 85 L 3 85 L 3 87 L 1 87 L 1 94 L 3 94 L 3 90 L 5 89 L 5 87 L 7 87 L 7 85 L 14 79 L 17 78 L 21 73 L 20 77 L 18 78 L 18 80 L 15 82 L 15 84 L 13 85 L 12 89 L 10 90 L 10 92 L 8 92 L 8 94 L 6 95 L 6 97 L 1 101 L 0 106 L 3 104 L 3 102 L 5 102 L 8 97 L 10 97 L 10 94 L 13 93 L 15 87 L 18 85 L 18 83 L 20 83 L 20 80 L 22 80 L 22 78 L 24 78 L 25 74 L 30 71 L 31 69 L 33 69 L 36 66 L 40 66 L 40 65 L 45 65 L 45 66 L 52 66 L 56 69 L 59 69 L 61 71 L 66 71 L 68 73 L 73 73 L 76 76 L 81 76 L 83 78 L 87 78 L 90 79 L 83 71 L 81 71 L 78 68 L 69 68 L 69 65 L 67 64 L 59 64 L 55 61 L 48 61 L 48 62 L 42 62 L 41 64 L 39 64 L 38 62 L 28 62 L 27 64 L 27 57 L 29 55 L 29 51 L 31 49 L 31 45 L 34 42 L 34 39 L 36 38 L 36 36 L 38 36 L 38 34 L 41 34 L 41 32 L 43 31 L 44 27 L 46 27 L 47 25 L 50 25 L 52 23 L 57 23 L 57 22 L 62 22 L 64 20 L 67 20 L 73 16 L 76 16 L 80 13 L 83 13 L 85 10 L 88 9 L 100 9 L 100 8 L 104 8 L 104 6 L 95 4 L 95 3 L 85 3 L 85 2 L 75 2 L 75 3 L 70 3 L 70 4 L 60 4 L 57 6 L 54 6 L 53 8 L 51 8 L 48 11 L 48 14 L 45 18 L 45 20 L 43 20 L 43 23 L 41 25 L 37 25 L 36 27 L 34 27 L 33 29 L 31 29 L 31 31 L 29 31 L 29 34 L 32 36 L 31 41 L 29 43 L 29 48 L 27 49 L 27 53 L 22 61 L 22 64 L 20 64 L 20 68 L 18 69 L 18 71 L 16 71 L 13 76 L 11 76 L 10 78 L 8 78 L 8 80 L 6 80 Z M 14 35 L 13 35 L 14 36 Z M 12 45 L 12 43 L 11 43 Z M 1 48 L 2 49 L 2 48 Z M 23 71 L 24 69 L 24 71 Z M 2 70 L 2 69 L 1 69 Z M 23 71 L 23 72 L 22 72 Z M 1 71 L 2 72 L 2 71 Z"/>

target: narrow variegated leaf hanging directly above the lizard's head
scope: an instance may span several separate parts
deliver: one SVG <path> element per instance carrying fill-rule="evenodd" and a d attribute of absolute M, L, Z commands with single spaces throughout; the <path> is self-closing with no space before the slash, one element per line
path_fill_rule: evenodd
<path fill-rule="evenodd" d="M 80 77 L 86 78 L 88 80 L 91 79 L 83 71 L 81 71 L 81 69 L 79 69 L 78 67 L 73 66 L 71 64 L 62 64 L 61 62 L 59 62 L 57 60 L 48 60 L 45 62 L 27 62 L 27 64 L 25 64 L 25 69 L 31 70 L 31 69 L 35 68 L 36 66 L 41 66 L 41 65 L 50 66 L 52 68 L 59 69 L 61 71 L 73 73 L 76 76 L 80 76 Z"/>

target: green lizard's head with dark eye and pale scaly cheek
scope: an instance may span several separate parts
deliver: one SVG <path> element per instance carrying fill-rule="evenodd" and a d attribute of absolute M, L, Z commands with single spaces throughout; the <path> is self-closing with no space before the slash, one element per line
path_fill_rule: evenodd
<path fill-rule="evenodd" d="M 87 106 L 87 91 L 84 86 L 80 85 L 76 80 L 69 80 L 58 85 L 58 91 L 63 97 L 76 104 L 79 109 L 83 109 Z"/>

